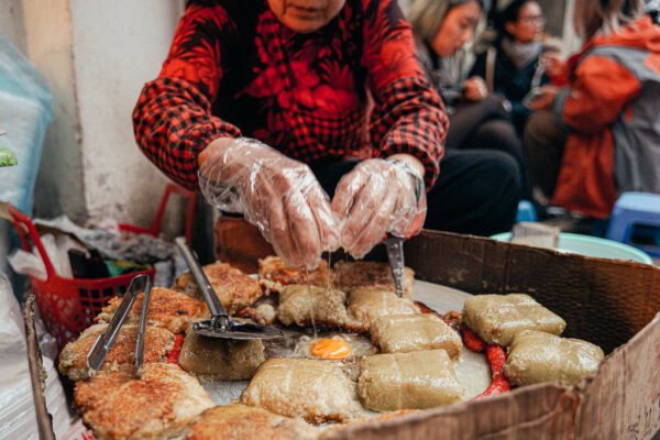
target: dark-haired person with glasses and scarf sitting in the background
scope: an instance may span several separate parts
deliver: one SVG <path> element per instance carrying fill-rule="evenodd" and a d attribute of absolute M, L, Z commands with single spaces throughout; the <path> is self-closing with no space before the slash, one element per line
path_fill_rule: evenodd
<path fill-rule="evenodd" d="M 503 94 L 512 103 L 512 119 L 522 134 L 531 110 L 525 98 L 542 73 L 541 37 L 546 19 L 535 0 L 514 0 L 495 15 L 495 41 L 477 54 L 470 75 L 483 78 L 488 90 Z M 548 56 L 548 63 L 557 61 Z M 539 69 L 541 65 L 541 69 Z M 546 75 L 538 85 L 549 81 Z"/>

